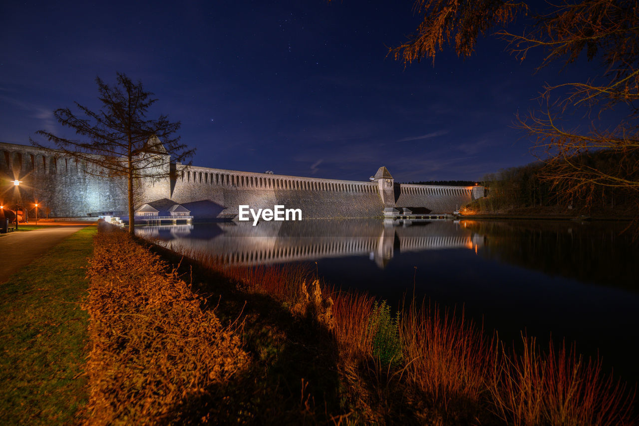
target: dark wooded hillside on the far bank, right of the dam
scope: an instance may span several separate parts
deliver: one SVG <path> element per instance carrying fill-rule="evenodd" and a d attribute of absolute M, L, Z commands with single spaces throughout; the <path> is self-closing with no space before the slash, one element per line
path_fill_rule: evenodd
<path fill-rule="evenodd" d="M 619 175 L 618 155 L 596 152 L 573 159 L 580 166 L 587 166 L 610 175 Z M 555 165 L 556 166 L 556 165 Z M 565 165 L 562 166 L 565 168 Z M 637 180 L 627 173 L 628 180 Z M 482 178 L 488 196 L 472 204 L 473 210 L 499 211 L 522 207 L 559 207 L 560 209 L 626 210 L 639 202 L 639 192 L 631 185 L 612 186 L 606 182 L 578 182 L 562 177 L 557 168 L 543 162 L 500 170 Z"/>

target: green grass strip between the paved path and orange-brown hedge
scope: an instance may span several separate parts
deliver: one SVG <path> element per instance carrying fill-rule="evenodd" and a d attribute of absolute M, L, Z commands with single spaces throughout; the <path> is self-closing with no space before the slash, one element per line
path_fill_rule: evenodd
<path fill-rule="evenodd" d="M 0 419 L 74 423 L 88 400 L 83 372 L 87 257 L 95 226 L 70 235 L 0 284 Z"/>

